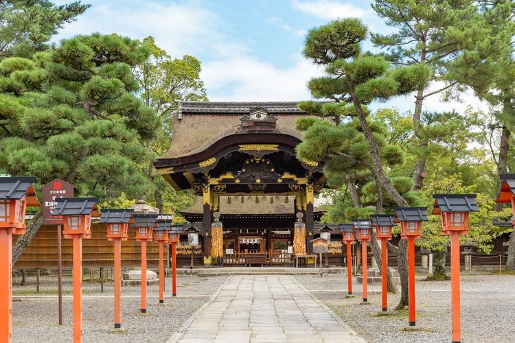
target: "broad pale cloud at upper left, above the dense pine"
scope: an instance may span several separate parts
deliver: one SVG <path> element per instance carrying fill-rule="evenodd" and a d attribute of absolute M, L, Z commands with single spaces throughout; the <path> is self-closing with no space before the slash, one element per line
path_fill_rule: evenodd
<path fill-rule="evenodd" d="M 65 26 L 57 38 L 76 34 L 116 32 L 131 38 L 154 36 L 157 45 L 172 56 L 216 56 L 242 53 L 247 47 L 221 34 L 220 18 L 198 3 L 187 4 L 127 1 L 93 5 L 78 20 Z"/>

